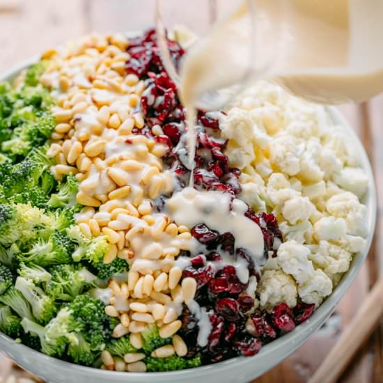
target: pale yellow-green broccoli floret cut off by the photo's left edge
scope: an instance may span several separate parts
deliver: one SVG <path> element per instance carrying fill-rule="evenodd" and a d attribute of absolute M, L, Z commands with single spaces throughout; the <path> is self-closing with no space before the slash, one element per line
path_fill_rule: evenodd
<path fill-rule="evenodd" d="M 0 244 L 24 243 L 36 237 L 36 228 L 46 221 L 44 212 L 29 204 L 0 204 Z"/>

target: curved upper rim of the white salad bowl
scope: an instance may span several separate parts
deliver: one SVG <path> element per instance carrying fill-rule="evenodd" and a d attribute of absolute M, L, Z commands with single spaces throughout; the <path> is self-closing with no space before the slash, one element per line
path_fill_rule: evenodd
<path fill-rule="evenodd" d="M 29 65 L 36 63 L 36 61 L 38 61 L 39 59 L 40 56 L 38 55 L 32 56 L 22 61 L 22 63 L 19 63 L 19 65 L 15 65 L 12 68 L 6 70 L 5 72 L 2 72 L 0 74 L 0 81 L 12 81 L 13 79 L 15 79 L 15 77 L 17 77 L 17 75 L 19 75 L 19 72 L 27 68 Z M 366 196 L 364 196 L 364 204 L 367 208 L 366 228 L 368 236 L 366 237 L 366 247 L 364 248 L 364 250 L 354 255 L 354 258 L 352 259 L 352 263 L 350 265 L 350 269 L 348 269 L 347 272 L 345 272 L 341 279 L 341 282 L 338 284 L 338 286 L 336 286 L 333 292 L 331 292 L 331 295 L 327 297 L 325 302 L 323 302 L 315 310 L 311 318 L 306 320 L 306 322 L 302 323 L 301 325 L 297 326 L 296 329 L 291 331 L 289 334 L 283 335 L 275 341 L 264 345 L 261 348 L 260 352 L 258 352 L 258 354 L 254 355 L 253 357 L 235 357 L 227 359 L 226 361 L 218 362 L 217 364 L 210 364 L 208 366 L 201 366 L 170 372 L 144 374 L 129 373 L 129 377 L 131 377 L 134 382 L 147 382 L 149 376 L 154 380 L 155 378 L 181 379 L 185 375 L 188 375 L 190 371 L 194 372 L 195 377 L 196 375 L 198 375 L 198 377 L 206 377 L 207 375 L 216 372 L 217 369 L 219 369 L 220 373 L 222 373 L 223 370 L 229 370 L 233 368 L 234 365 L 235 368 L 241 368 L 249 364 L 259 364 L 259 366 L 267 364 L 266 368 L 263 368 L 263 370 L 261 368 L 261 373 L 265 373 L 267 370 L 273 368 L 274 366 L 279 364 L 283 359 L 292 354 L 292 352 L 294 352 L 299 347 L 299 345 L 302 345 L 304 341 L 306 341 L 320 326 L 322 326 L 325 320 L 327 320 L 329 315 L 331 315 L 331 313 L 334 311 L 338 302 L 345 295 L 345 292 L 348 290 L 351 283 L 357 277 L 359 270 L 364 264 L 364 260 L 368 256 L 368 252 L 370 250 L 370 246 L 373 241 L 373 235 L 375 232 L 375 223 L 377 217 L 377 196 L 373 170 L 371 168 L 366 150 L 362 145 L 359 137 L 354 132 L 354 130 L 352 130 L 350 124 L 347 122 L 347 120 L 345 120 L 341 112 L 338 111 L 336 107 L 327 106 L 326 109 L 329 113 L 329 116 L 334 121 L 334 124 L 341 125 L 343 130 L 347 130 L 347 134 L 350 134 L 349 138 L 352 142 L 352 145 L 355 149 L 357 149 L 358 153 L 361 155 L 360 166 L 362 169 L 364 169 L 364 171 L 366 171 L 368 175 L 369 188 L 368 192 L 366 193 Z M 288 352 L 278 352 L 279 350 L 282 350 L 283 347 L 286 347 L 289 343 L 290 345 Z M 17 363 L 19 363 L 23 368 L 30 370 L 35 375 L 40 375 L 41 373 L 40 371 L 36 371 L 33 368 L 34 358 L 31 358 L 31 362 L 29 363 L 26 361 L 21 362 L 19 361 L 19 358 L 15 357 L 15 354 L 19 352 L 21 354 L 30 354 L 31 356 L 40 358 L 40 360 L 44 364 L 53 364 L 58 370 L 68 372 L 69 369 L 72 369 L 72 373 L 81 373 L 81 375 L 87 376 L 90 379 L 92 377 L 96 377 L 97 375 L 97 378 L 105 379 L 105 381 L 109 382 L 109 380 L 112 379 L 122 381 L 123 378 L 127 377 L 126 372 L 100 370 L 98 368 L 81 366 L 78 364 L 70 363 L 68 361 L 63 361 L 61 359 L 56 359 L 54 357 L 49 357 L 45 354 L 42 354 L 42 352 L 33 350 L 21 343 L 17 343 L 15 340 L 2 333 L 0 333 L 0 346 L 0 352 L 2 351 L 8 354 L 12 359 L 15 359 Z M 274 357 L 274 361 L 272 364 L 269 364 L 268 362 L 268 359 L 270 357 Z"/>

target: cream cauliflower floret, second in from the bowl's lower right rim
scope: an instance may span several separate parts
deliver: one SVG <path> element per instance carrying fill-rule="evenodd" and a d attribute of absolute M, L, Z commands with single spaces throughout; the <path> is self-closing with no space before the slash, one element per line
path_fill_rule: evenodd
<path fill-rule="evenodd" d="M 308 258 L 331 278 L 334 274 L 347 272 L 350 268 L 352 255 L 336 244 L 320 241 L 319 245 L 313 247 Z"/>

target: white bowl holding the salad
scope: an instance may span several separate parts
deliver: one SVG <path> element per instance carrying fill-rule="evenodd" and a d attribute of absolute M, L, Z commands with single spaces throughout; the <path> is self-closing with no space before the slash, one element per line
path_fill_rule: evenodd
<path fill-rule="evenodd" d="M 20 70 L 26 68 L 27 65 L 37 61 L 38 58 L 32 58 L 17 68 L 13 68 L 0 76 L 0 81 L 13 79 Z M 181 370 L 171 373 L 118 373 L 114 371 L 98 370 L 70 364 L 59 359 L 47 357 L 35 350 L 30 349 L 21 344 L 17 344 L 13 339 L 0 334 L 0 350 L 6 352 L 10 358 L 17 364 L 29 370 L 43 379 L 51 383 L 102 383 L 102 382 L 131 382 L 131 383 L 195 383 L 195 382 L 237 382 L 244 383 L 255 379 L 267 370 L 279 364 L 280 361 L 288 357 L 293 351 L 299 347 L 306 339 L 313 334 L 334 311 L 336 304 L 341 300 L 347 288 L 351 285 L 357 276 L 359 269 L 364 263 L 370 248 L 375 229 L 376 218 L 376 194 L 373 172 L 371 171 L 370 162 L 366 155 L 366 151 L 354 133 L 350 125 L 343 118 L 341 113 L 333 108 L 328 108 L 329 115 L 334 123 L 342 125 L 347 131 L 354 148 L 359 152 L 360 162 L 363 169 L 368 174 L 369 188 L 368 193 L 364 197 L 364 203 L 367 206 L 367 230 L 368 238 L 366 249 L 361 251 L 352 260 L 350 270 L 345 274 L 341 283 L 336 287 L 334 292 L 326 299 L 326 301 L 318 308 L 313 316 L 299 325 L 290 334 L 262 347 L 260 352 L 254 357 L 236 357 L 218 364 L 193 368 L 191 370 Z"/>

